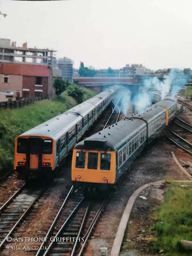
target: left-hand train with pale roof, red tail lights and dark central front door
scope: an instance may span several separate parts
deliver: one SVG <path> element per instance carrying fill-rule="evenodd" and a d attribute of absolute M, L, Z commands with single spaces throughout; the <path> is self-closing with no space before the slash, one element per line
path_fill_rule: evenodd
<path fill-rule="evenodd" d="M 27 180 L 55 170 L 102 111 L 113 100 L 116 89 L 109 88 L 95 97 L 24 132 L 15 140 L 14 169 Z"/>

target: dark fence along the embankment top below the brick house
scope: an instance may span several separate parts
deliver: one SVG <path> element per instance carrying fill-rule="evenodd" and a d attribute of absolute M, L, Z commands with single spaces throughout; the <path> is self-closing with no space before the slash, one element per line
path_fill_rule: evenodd
<path fill-rule="evenodd" d="M 22 108 L 34 103 L 36 100 L 42 99 L 24 99 L 24 100 L 13 100 L 0 102 L 0 108 Z"/>

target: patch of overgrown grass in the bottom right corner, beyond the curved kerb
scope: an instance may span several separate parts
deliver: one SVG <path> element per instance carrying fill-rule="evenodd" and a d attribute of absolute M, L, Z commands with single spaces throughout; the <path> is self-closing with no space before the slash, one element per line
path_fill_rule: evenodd
<path fill-rule="evenodd" d="M 192 255 L 180 245 L 181 239 L 192 241 L 192 188 L 181 188 L 180 184 L 172 183 L 166 189 L 152 227 L 156 231 L 155 249 L 170 256 Z"/>

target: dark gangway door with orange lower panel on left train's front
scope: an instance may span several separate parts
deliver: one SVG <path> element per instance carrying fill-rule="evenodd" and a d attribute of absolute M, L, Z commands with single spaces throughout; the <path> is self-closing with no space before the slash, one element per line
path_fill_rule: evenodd
<path fill-rule="evenodd" d="M 28 138 L 27 168 L 41 170 L 43 140 L 38 137 Z"/>

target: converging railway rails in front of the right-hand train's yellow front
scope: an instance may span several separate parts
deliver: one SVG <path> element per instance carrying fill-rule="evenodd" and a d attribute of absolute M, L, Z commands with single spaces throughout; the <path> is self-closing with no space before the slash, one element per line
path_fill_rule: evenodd
<path fill-rule="evenodd" d="M 82 255 L 107 198 L 99 204 L 97 211 L 93 211 L 94 203 L 92 204 L 82 194 L 72 194 L 72 191 L 73 186 L 63 201 L 36 256 Z M 45 247 L 46 250 L 41 250 Z"/>

